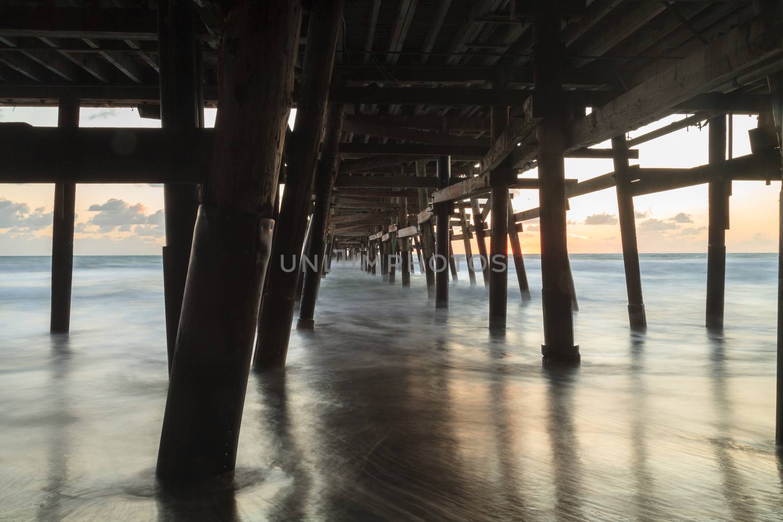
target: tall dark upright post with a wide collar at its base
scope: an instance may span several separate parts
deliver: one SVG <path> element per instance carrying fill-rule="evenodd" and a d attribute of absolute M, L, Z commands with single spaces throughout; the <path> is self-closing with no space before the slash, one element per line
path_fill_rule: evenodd
<path fill-rule="evenodd" d="M 536 128 L 539 164 L 541 276 L 543 282 L 544 344 L 547 360 L 579 359 L 574 344 L 572 292 L 565 219 L 565 136 L 561 113 L 560 19 L 536 16 L 533 24 L 533 75 L 536 110 L 542 117 Z"/>

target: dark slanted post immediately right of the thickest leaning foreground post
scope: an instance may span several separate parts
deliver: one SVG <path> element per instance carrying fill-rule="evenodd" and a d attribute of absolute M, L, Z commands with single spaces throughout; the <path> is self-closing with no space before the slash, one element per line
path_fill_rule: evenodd
<path fill-rule="evenodd" d="M 308 202 L 316 172 L 319 142 L 326 119 L 329 83 L 334 65 L 343 0 L 317 2 L 310 12 L 304 76 L 291 133 L 286 189 L 280 209 L 278 237 L 272 252 L 272 273 L 258 315 L 256 369 L 282 368 L 286 363 L 290 325 L 294 317 L 296 275 L 284 272 L 280 258 L 298 257 L 305 236 Z M 259 72 L 262 74 L 262 72 Z"/>

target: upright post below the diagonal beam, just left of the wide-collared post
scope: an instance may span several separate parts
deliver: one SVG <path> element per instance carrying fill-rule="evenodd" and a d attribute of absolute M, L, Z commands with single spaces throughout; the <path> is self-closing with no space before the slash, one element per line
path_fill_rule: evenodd
<path fill-rule="evenodd" d="M 490 173 L 492 185 L 492 237 L 489 240 L 489 328 L 506 328 L 508 293 L 508 180 L 511 173 L 499 168 Z"/>

